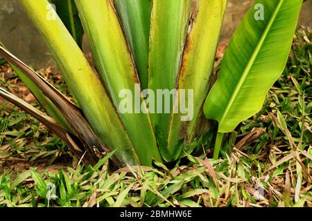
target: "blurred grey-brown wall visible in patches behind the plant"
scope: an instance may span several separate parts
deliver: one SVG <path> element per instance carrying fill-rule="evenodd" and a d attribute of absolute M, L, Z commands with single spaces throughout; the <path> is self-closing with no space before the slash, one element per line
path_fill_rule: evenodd
<path fill-rule="evenodd" d="M 252 3 L 252 0 L 229 0 L 220 44 L 227 43 Z M 308 0 L 302 7 L 299 26 L 312 25 L 311 12 L 312 0 Z M 53 65 L 48 48 L 18 0 L 0 0 L 0 30 L 0 41 L 26 64 L 35 68 Z"/>

